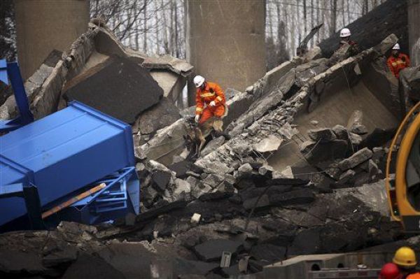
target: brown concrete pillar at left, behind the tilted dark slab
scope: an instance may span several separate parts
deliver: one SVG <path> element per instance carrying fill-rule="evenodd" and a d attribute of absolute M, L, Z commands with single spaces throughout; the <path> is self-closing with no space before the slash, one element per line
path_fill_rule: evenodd
<path fill-rule="evenodd" d="M 88 0 L 15 0 L 18 59 L 29 78 L 54 49 L 64 51 L 87 30 Z"/>

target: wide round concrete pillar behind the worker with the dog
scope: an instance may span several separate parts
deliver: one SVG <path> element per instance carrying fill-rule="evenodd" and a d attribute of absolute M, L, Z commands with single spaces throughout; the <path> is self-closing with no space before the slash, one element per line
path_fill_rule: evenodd
<path fill-rule="evenodd" d="M 265 0 L 188 0 L 187 60 L 223 89 L 265 75 Z"/>

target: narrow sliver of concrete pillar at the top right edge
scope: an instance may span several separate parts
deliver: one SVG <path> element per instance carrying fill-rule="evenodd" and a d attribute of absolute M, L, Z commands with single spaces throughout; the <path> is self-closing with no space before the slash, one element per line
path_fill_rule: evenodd
<path fill-rule="evenodd" d="M 420 0 L 408 1 L 409 54 L 412 66 L 420 65 Z"/>

